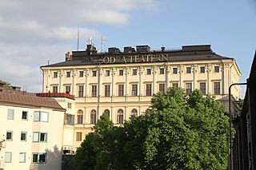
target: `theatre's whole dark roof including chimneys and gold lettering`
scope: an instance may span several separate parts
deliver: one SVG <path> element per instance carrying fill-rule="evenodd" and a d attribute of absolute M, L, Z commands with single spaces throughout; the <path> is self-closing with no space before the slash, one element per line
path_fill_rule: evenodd
<path fill-rule="evenodd" d="M 120 52 L 116 47 L 111 47 L 108 53 L 97 53 L 95 49 L 87 48 L 85 51 L 73 51 L 72 55 L 70 53 L 68 54 L 67 56 L 66 53 L 66 61 L 52 65 L 43 65 L 42 67 L 142 63 L 145 60 L 147 62 L 171 62 L 233 59 L 232 57 L 222 57 L 214 53 L 210 49 L 210 45 L 186 45 L 182 46 L 182 49 L 172 50 L 166 50 L 162 47 L 162 50 L 159 51 L 150 51 L 148 45 L 138 45 L 137 51 L 134 48 L 125 47 L 124 52 Z M 111 61 L 111 59 L 114 61 Z"/>

